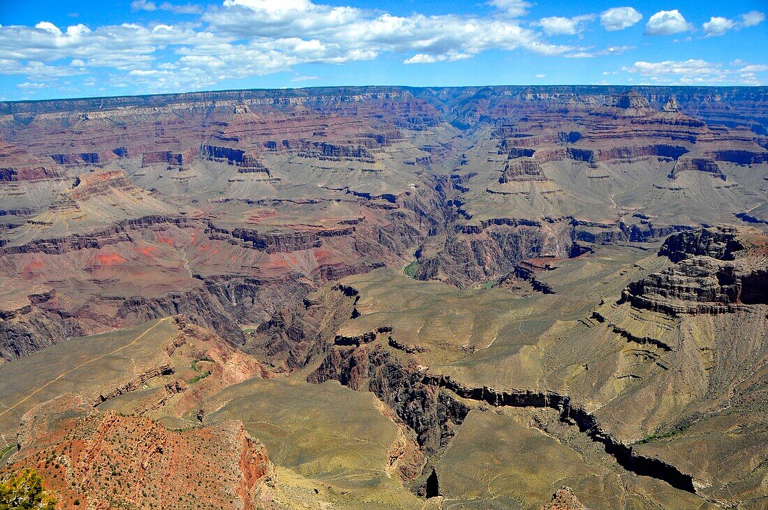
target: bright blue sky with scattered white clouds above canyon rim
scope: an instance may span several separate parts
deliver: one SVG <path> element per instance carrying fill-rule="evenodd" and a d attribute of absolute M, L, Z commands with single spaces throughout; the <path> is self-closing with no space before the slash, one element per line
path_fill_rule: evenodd
<path fill-rule="evenodd" d="M 768 2 L 0 0 L 0 100 L 400 84 L 768 84 Z"/>

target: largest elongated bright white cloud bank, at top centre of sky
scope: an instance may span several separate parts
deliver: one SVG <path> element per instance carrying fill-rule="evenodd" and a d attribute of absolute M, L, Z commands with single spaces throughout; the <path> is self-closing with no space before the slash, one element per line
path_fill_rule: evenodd
<path fill-rule="evenodd" d="M 506 5 L 506 4 L 505 4 Z M 358 8 L 318 5 L 308 0 L 225 0 L 223 8 L 204 15 L 217 33 L 237 38 L 313 38 L 327 48 L 360 54 L 411 53 L 409 64 L 455 61 L 489 49 L 522 48 L 537 54 L 560 54 L 566 46 L 506 18 L 413 14 L 370 17 Z"/>

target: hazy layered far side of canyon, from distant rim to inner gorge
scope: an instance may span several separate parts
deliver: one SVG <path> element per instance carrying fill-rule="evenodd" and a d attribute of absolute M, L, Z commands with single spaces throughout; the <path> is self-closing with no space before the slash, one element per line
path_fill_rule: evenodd
<path fill-rule="evenodd" d="M 760 224 L 766 112 L 764 87 L 0 103 L 0 276 L 41 289 L 0 304 L 3 356 L 177 312 L 243 343 L 233 324 L 373 268 L 494 285 L 584 243 Z"/>

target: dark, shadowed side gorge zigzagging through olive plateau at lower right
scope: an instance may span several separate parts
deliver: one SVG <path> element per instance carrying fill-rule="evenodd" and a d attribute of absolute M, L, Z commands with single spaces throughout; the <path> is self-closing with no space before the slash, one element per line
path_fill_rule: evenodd
<path fill-rule="evenodd" d="M 592 440 L 602 443 L 605 451 L 624 469 L 664 480 L 677 489 L 695 492 L 690 475 L 659 459 L 638 455 L 631 446 L 602 429 L 594 415 L 571 402 L 568 395 L 552 391 L 467 387 L 451 377 L 425 373 L 423 367 L 416 366 L 412 360 L 404 363 L 376 341 L 376 332 L 369 336 L 371 340 L 359 345 L 334 342 L 307 380 L 314 383 L 338 380 L 353 390 L 375 393 L 413 429 L 419 445 L 428 455 L 447 446 L 455 428 L 462 424 L 470 410 L 456 396 L 491 406 L 545 407 L 557 410 L 561 420 L 573 423 Z"/>

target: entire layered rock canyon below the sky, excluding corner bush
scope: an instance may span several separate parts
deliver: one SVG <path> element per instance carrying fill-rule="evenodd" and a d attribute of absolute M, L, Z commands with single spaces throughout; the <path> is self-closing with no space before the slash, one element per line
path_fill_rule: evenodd
<path fill-rule="evenodd" d="M 765 87 L 0 102 L 2 472 L 62 508 L 765 508 L 766 119 Z"/>

